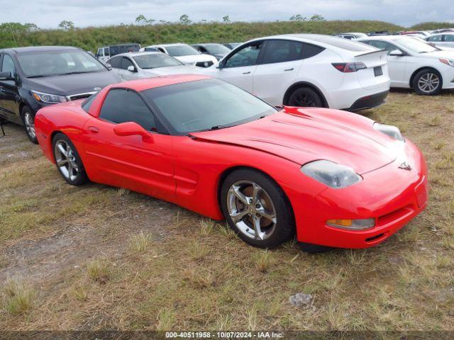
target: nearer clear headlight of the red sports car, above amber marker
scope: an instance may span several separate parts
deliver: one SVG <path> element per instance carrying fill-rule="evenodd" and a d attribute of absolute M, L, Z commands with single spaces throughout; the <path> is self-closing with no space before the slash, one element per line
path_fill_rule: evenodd
<path fill-rule="evenodd" d="M 315 161 L 301 166 L 303 174 L 331 188 L 345 188 L 362 180 L 350 166 L 336 164 L 330 161 Z"/>

